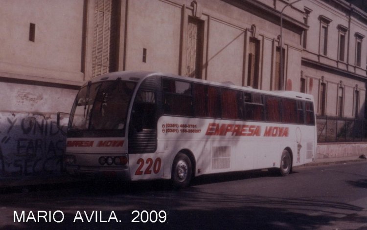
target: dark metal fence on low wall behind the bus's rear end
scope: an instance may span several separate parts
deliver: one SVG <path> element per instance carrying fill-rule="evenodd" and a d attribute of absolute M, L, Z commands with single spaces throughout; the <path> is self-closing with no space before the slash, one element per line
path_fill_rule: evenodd
<path fill-rule="evenodd" d="M 319 143 L 367 141 L 367 120 L 317 117 L 316 124 Z"/>

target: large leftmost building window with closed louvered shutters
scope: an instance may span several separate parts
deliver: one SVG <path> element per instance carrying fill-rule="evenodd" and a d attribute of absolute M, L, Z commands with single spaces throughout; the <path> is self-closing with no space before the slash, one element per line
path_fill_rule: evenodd
<path fill-rule="evenodd" d="M 118 2 L 94 1 L 92 78 L 117 70 Z"/>

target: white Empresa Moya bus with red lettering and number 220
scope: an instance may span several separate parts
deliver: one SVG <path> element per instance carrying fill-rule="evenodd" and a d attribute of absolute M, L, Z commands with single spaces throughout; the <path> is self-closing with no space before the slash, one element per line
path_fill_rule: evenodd
<path fill-rule="evenodd" d="M 314 111 L 309 94 L 123 71 L 86 82 L 57 125 L 67 135 L 69 174 L 167 179 L 183 188 L 205 174 L 286 176 L 314 161 Z"/>

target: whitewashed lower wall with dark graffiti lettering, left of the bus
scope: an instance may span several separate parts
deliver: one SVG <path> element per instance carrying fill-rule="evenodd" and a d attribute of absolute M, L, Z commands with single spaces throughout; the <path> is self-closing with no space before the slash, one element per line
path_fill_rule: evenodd
<path fill-rule="evenodd" d="M 55 117 L 0 113 L 0 178 L 60 172 L 64 146 Z"/>

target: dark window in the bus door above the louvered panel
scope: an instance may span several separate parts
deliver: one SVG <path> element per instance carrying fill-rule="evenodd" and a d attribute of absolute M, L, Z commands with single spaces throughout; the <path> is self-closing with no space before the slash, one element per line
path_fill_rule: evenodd
<path fill-rule="evenodd" d="M 132 125 L 135 131 L 156 129 L 156 95 L 155 92 L 139 90 L 135 98 L 132 113 Z"/>

